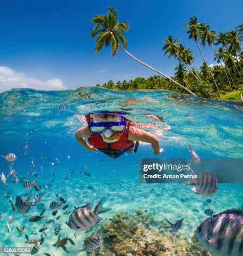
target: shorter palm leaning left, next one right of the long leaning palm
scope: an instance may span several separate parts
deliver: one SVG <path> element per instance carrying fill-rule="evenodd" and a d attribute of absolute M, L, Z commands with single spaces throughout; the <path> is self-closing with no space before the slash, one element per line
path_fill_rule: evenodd
<path fill-rule="evenodd" d="M 165 44 L 162 48 L 162 50 L 165 50 L 165 54 L 168 53 L 168 56 L 170 58 L 170 56 L 174 56 L 179 59 L 179 61 L 181 61 L 184 66 L 188 69 L 189 72 L 191 72 L 193 74 L 193 72 L 191 71 L 191 69 L 185 64 L 185 61 L 183 61 L 183 59 L 180 57 L 179 51 L 180 51 L 180 44 L 176 43 L 177 40 L 179 40 L 180 38 L 177 37 L 175 38 L 175 40 L 173 40 L 173 36 L 168 35 L 168 37 L 163 40 L 162 42 Z M 193 76 L 198 80 L 198 82 L 200 82 L 200 80 L 198 79 L 198 77 L 195 76 L 195 74 L 193 74 Z"/>

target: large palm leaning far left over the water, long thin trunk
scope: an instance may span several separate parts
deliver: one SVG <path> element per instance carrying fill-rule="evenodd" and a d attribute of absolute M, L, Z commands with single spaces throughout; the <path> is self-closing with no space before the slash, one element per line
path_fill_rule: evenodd
<path fill-rule="evenodd" d="M 178 82 L 175 82 L 173 79 L 171 79 L 167 75 L 163 74 L 157 69 L 154 69 L 153 67 L 150 67 L 149 65 L 135 58 L 135 56 L 130 54 L 128 51 L 126 51 L 125 48 L 128 46 L 128 42 L 124 37 L 124 32 L 128 31 L 129 24 L 126 21 L 119 23 L 119 20 L 117 17 L 118 16 L 117 9 L 114 9 L 112 6 L 108 6 L 108 9 L 109 9 L 108 13 L 95 15 L 91 19 L 91 22 L 95 23 L 93 30 L 90 32 L 90 38 L 93 38 L 96 36 L 95 53 L 98 53 L 103 48 L 103 46 L 108 47 L 111 45 L 112 56 L 114 56 L 118 51 L 118 49 L 120 48 L 130 57 L 135 59 L 135 61 L 138 61 L 140 64 L 144 65 L 145 67 L 148 67 L 149 69 L 152 69 L 158 74 L 161 74 L 163 77 L 166 77 L 171 82 L 183 88 L 185 91 L 196 96 L 193 92 L 185 88 L 183 85 L 179 84 Z"/>

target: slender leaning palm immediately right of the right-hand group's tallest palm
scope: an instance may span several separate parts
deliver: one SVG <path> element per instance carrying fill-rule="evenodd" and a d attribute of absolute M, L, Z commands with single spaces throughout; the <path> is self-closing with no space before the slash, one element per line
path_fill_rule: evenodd
<path fill-rule="evenodd" d="M 217 53 L 215 52 L 215 49 L 213 48 L 213 44 L 214 44 L 214 41 L 216 39 L 216 31 L 215 30 L 212 30 L 210 31 L 210 25 L 207 25 L 207 24 L 203 24 L 201 27 L 200 27 L 200 36 L 201 36 L 201 39 L 202 39 L 202 45 L 205 46 L 206 43 L 208 43 L 208 46 L 211 46 L 211 48 L 213 49 L 214 51 L 214 54 L 217 56 Z M 218 56 L 217 56 L 218 57 Z M 231 84 L 230 84 L 230 79 L 228 78 L 228 75 L 223 67 L 223 63 L 220 61 L 220 59 L 218 58 L 218 61 L 220 62 L 222 68 L 223 68 L 223 71 L 228 79 L 228 82 L 229 82 L 229 86 L 230 86 L 230 89 L 232 91 L 232 87 L 231 87 Z"/>

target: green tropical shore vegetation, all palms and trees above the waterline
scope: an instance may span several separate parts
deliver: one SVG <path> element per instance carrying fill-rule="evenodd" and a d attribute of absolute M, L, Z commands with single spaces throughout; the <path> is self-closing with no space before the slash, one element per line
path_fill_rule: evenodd
<path fill-rule="evenodd" d="M 147 79 L 137 77 L 116 83 L 110 80 L 96 86 L 113 90 L 171 90 L 211 99 L 240 99 L 243 90 L 243 24 L 233 30 L 216 34 L 216 31 L 210 30 L 210 25 L 199 23 L 196 16 L 191 17 L 183 28 L 187 29 L 188 38 L 195 42 L 203 62 L 199 69 L 193 67 L 194 52 L 180 44 L 179 37 L 174 39 L 172 35 L 168 35 L 162 41 L 162 51 L 165 55 L 168 54 L 169 58 L 174 57 L 178 60 L 174 76 L 169 77 L 126 50 L 128 42 L 124 34 L 129 29 L 129 23 L 119 22 L 117 9 L 109 6 L 108 13 L 95 15 L 91 22 L 94 23 L 94 27 L 90 38 L 96 37 L 95 53 L 103 46 L 111 46 L 112 56 L 115 56 L 121 49 L 135 61 L 158 73 Z M 208 64 L 202 50 L 205 46 L 210 46 L 217 64 Z"/>

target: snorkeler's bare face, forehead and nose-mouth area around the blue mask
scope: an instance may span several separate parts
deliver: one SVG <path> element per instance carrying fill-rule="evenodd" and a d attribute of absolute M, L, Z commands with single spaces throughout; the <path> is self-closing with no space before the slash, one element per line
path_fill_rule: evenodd
<path fill-rule="evenodd" d="M 93 118 L 94 123 L 122 121 L 122 118 L 116 114 L 93 114 L 92 118 Z M 103 138 L 103 141 L 105 141 L 106 143 L 112 143 L 112 142 L 117 141 L 116 138 L 114 137 L 114 134 L 115 133 L 110 131 L 110 129 L 107 129 L 100 135 Z"/>

